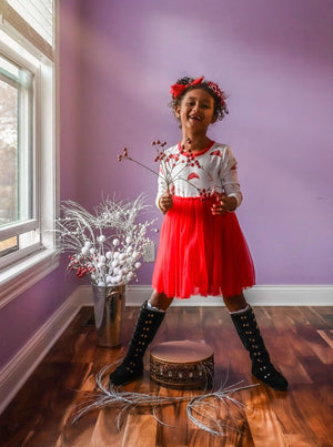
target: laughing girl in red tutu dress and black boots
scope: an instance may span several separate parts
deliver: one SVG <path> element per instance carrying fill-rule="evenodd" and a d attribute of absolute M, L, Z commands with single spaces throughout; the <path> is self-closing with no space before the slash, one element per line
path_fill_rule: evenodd
<path fill-rule="evenodd" d="M 228 113 L 225 95 L 203 78 L 182 78 L 171 87 L 171 108 L 182 140 L 165 151 L 157 205 L 165 215 L 152 277 L 153 293 L 139 314 L 122 364 L 110 375 L 121 385 L 143 372 L 142 358 L 173 297 L 222 295 L 249 351 L 252 374 L 274 389 L 286 379 L 274 368 L 243 289 L 254 268 L 234 211 L 242 202 L 236 161 L 226 144 L 211 141 L 210 124 Z"/>

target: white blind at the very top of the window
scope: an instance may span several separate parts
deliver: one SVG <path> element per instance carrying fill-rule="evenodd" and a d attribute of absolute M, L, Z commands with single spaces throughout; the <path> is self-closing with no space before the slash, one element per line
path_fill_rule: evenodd
<path fill-rule="evenodd" d="M 0 0 L 0 27 L 53 59 L 56 0 Z"/>

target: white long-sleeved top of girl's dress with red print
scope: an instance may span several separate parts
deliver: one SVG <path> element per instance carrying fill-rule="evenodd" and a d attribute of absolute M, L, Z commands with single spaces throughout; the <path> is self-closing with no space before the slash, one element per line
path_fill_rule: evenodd
<path fill-rule="evenodd" d="M 192 160 L 182 153 L 180 144 L 167 149 L 164 153 L 165 158 L 160 162 L 158 206 L 168 183 L 170 192 L 176 196 L 198 197 L 203 190 L 206 193 L 214 190 L 234 196 L 238 206 L 241 204 L 238 162 L 226 144 L 212 142 L 208 149 L 195 153 Z"/>

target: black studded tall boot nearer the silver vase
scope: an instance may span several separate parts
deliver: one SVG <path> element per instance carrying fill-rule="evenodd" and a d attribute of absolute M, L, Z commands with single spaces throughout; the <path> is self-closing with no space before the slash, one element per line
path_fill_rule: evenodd
<path fill-rule="evenodd" d="M 165 316 L 164 312 L 150 311 L 147 308 L 147 304 L 145 301 L 141 306 L 132 339 L 122 364 L 110 374 L 110 383 L 113 385 L 135 380 L 142 375 L 143 355 Z"/>

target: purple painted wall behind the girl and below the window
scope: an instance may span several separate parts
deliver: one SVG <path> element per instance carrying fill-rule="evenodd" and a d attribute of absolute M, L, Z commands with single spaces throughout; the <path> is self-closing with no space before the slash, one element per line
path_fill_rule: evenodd
<path fill-rule="evenodd" d="M 159 215 L 155 179 L 117 154 L 152 164 L 152 140 L 176 142 L 169 87 L 204 74 L 230 94 L 211 138 L 239 160 L 258 284 L 332 283 L 332 1 L 59 3 L 61 199 L 143 191 Z M 0 309 L 0 369 L 77 285 L 62 265 Z"/>

